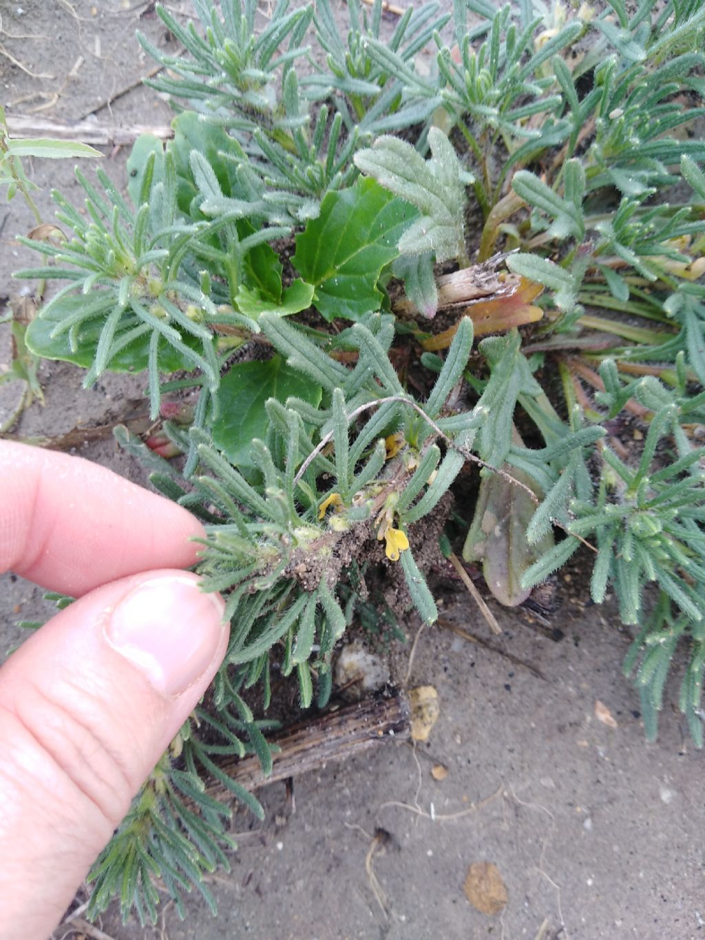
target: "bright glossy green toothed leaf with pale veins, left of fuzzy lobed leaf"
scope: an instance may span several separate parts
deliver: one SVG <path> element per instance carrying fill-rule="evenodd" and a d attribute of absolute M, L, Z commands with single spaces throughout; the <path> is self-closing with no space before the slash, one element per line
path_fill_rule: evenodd
<path fill-rule="evenodd" d="M 357 320 L 379 310 L 382 269 L 399 254 L 399 238 L 415 209 L 374 180 L 328 193 L 321 214 L 296 237 L 296 270 L 316 290 L 315 304 L 326 320 Z"/>

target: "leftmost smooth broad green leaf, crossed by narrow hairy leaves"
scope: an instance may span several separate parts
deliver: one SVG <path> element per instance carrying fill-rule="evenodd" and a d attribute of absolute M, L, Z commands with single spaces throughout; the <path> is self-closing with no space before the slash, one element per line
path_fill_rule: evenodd
<path fill-rule="evenodd" d="M 39 317 L 27 327 L 25 336 L 27 348 L 35 355 L 43 356 L 45 359 L 60 359 L 63 362 L 72 362 L 76 366 L 89 368 L 95 359 L 102 327 L 105 325 L 110 312 L 108 307 L 99 316 L 86 321 L 81 326 L 75 352 L 71 350 L 69 331 L 63 332 L 57 337 L 52 336 L 52 332 L 57 326 L 75 314 L 81 307 L 86 306 L 86 303 L 86 297 L 83 296 L 65 297 L 50 308 L 48 316 L 44 316 L 39 312 Z M 129 311 L 126 311 L 118 322 L 118 329 L 115 333 L 116 341 L 121 337 L 126 337 L 131 330 L 138 328 L 139 325 L 139 321 Z M 151 334 L 152 331 L 146 326 L 139 336 L 135 337 L 132 342 L 128 343 L 116 356 L 110 359 L 107 368 L 111 372 L 141 372 L 143 369 L 148 368 Z M 181 335 L 181 342 L 194 350 L 200 350 L 203 344 L 201 339 L 188 334 Z M 158 360 L 162 372 L 176 372 L 180 369 L 191 371 L 194 368 L 193 362 L 182 356 L 164 338 L 159 341 Z"/>

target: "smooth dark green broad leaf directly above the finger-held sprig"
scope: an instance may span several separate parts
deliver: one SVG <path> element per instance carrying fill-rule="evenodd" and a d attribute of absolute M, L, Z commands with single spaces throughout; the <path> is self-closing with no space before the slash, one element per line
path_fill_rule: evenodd
<path fill-rule="evenodd" d="M 241 362 L 230 369 L 220 384 L 220 417 L 212 427 L 213 444 L 238 467 L 254 467 L 250 446 L 264 439 L 269 415 L 267 399 L 286 402 L 290 396 L 312 405 L 321 401 L 321 385 L 290 368 L 280 355 L 267 362 Z"/>

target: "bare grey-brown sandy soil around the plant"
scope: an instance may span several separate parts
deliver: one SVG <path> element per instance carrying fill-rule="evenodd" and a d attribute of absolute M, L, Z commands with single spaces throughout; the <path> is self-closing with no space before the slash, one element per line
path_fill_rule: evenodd
<path fill-rule="evenodd" d="M 170 4 L 187 6 L 187 0 Z M 151 68 L 133 39 L 135 27 L 166 41 L 150 9 L 135 0 L 0 0 L 0 89 L 8 114 L 50 104 L 39 115 L 80 118 L 133 85 Z M 26 70 L 54 77 L 33 78 L 8 54 Z M 164 102 L 138 86 L 95 114 L 124 123 L 168 120 Z M 125 158 L 124 149 L 106 149 L 102 161 L 121 185 Z M 34 165 L 30 173 L 41 187 L 38 202 L 47 220 L 52 186 L 78 195 L 67 164 Z M 10 274 L 27 261 L 13 236 L 31 226 L 19 200 L 9 208 L 0 203 L 2 301 L 21 287 Z M 2 329 L 0 361 L 8 361 L 8 330 Z M 56 434 L 146 411 L 139 377 L 110 377 L 90 391 L 81 388 L 82 378 L 70 366 L 44 364 L 46 405 L 29 409 L 16 433 Z M 17 389 L 1 391 L 0 423 Z M 143 479 L 109 436 L 82 452 Z M 544 679 L 447 630 L 425 630 L 411 684 L 438 690 L 441 714 L 430 743 L 415 750 L 390 744 L 297 780 L 295 811 L 283 786 L 263 791 L 265 823 L 236 818 L 240 849 L 232 872 L 211 881 L 217 920 L 194 897 L 183 924 L 167 906 L 158 929 L 123 926 L 110 912 L 102 930 L 116 940 L 705 935 L 702 755 L 687 737 L 674 689 L 666 696 L 658 743 L 645 743 L 637 697 L 620 673 L 629 637 L 609 605 L 586 606 L 585 592 L 573 584 L 559 591 L 554 625 L 564 637 L 558 642 L 524 615 L 495 610 L 501 650 L 537 666 Z M 0 579 L 3 653 L 18 641 L 16 619 L 47 616 L 40 598 L 38 589 L 12 575 Z M 461 593 L 447 594 L 445 616 L 485 635 Z M 416 629 L 409 623 L 411 637 Z M 597 720 L 597 701 L 616 728 Z M 443 781 L 431 776 L 438 763 L 448 770 Z M 369 855 L 376 833 L 384 835 L 384 846 Z M 493 862 L 508 888 L 507 906 L 493 917 L 463 894 L 468 866 L 478 861 Z M 378 881 L 376 895 L 370 873 Z M 56 937 L 76 933 L 67 927 Z"/>

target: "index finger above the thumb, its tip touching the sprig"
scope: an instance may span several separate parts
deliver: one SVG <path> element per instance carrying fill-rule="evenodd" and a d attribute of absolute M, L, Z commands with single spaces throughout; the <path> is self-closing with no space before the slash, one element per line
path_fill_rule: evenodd
<path fill-rule="evenodd" d="M 80 457 L 0 441 L 0 572 L 80 597 L 152 568 L 188 568 L 190 512 Z"/>

